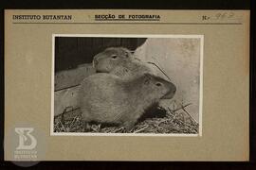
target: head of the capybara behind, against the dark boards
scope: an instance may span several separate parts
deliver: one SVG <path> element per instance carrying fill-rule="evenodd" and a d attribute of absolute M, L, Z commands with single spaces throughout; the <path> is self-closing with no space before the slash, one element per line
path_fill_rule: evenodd
<path fill-rule="evenodd" d="M 109 47 L 97 54 L 93 59 L 93 66 L 97 72 L 109 73 L 117 65 L 127 62 L 133 57 L 130 50 L 124 47 Z"/>

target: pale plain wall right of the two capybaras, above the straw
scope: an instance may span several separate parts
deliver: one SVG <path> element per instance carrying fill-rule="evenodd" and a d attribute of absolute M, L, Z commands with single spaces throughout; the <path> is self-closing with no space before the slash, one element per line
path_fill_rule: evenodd
<path fill-rule="evenodd" d="M 198 122 L 200 39 L 149 38 L 137 48 L 135 55 L 143 61 L 155 62 L 176 85 L 177 91 L 174 98 L 162 101 L 161 105 L 173 108 L 174 101 L 177 105 L 192 103 L 186 109 Z"/>

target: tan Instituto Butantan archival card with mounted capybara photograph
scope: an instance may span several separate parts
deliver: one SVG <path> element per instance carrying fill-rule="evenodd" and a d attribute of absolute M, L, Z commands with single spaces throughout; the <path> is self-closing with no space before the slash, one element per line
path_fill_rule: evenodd
<path fill-rule="evenodd" d="M 248 161 L 249 11 L 5 10 L 6 161 Z"/>

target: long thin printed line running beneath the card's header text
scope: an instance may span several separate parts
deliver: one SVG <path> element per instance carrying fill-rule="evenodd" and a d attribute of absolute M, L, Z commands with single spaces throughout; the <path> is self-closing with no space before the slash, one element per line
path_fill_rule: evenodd
<path fill-rule="evenodd" d="M 150 23 L 119 23 L 119 22 L 104 22 L 104 23 L 20 23 L 20 22 L 16 22 L 16 23 L 12 23 L 12 24 L 20 24 L 20 25 L 30 25 L 30 24 L 43 24 L 43 25 L 103 25 L 103 24 L 114 24 L 114 25 L 243 25 L 243 23 L 154 23 L 154 22 L 150 22 Z"/>

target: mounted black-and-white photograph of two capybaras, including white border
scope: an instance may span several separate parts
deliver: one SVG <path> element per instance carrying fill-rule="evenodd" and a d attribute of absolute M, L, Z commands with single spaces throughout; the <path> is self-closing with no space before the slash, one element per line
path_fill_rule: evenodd
<path fill-rule="evenodd" d="M 52 36 L 51 135 L 202 135 L 203 35 Z"/>

